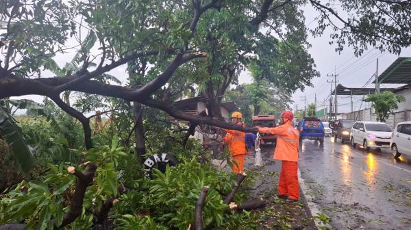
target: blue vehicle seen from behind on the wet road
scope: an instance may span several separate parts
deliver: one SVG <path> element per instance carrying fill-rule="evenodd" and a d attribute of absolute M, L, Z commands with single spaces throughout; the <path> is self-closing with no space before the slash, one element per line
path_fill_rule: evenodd
<path fill-rule="evenodd" d="M 298 124 L 297 130 L 300 134 L 300 142 L 303 139 L 320 141 L 321 144 L 324 143 L 324 125 L 320 119 L 316 117 L 304 118 Z"/>

